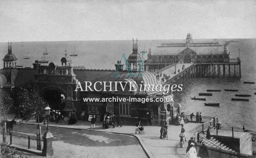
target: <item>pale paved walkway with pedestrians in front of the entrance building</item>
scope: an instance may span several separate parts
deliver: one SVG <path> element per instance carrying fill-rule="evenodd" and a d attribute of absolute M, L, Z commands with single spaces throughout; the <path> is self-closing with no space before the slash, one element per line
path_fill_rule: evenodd
<path fill-rule="evenodd" d="M 14 115 L 7 115 L 7 118 L 11 120 L 13 119 L 13 116 Z M 17 122 L 19 122 L 18 119 L 17 119 Z M 35 120 L 30 120 L 28 123 L 37 124 Z M 49 122 L 49 126 L 76 128 L 76 129 L 84 129 L 84 130 L 90 130 L 89 129 L 90 124 L 91 123 L 89 121 L 78 121 L 74 125 L 68 125 L 67 122 L 62 122 L 58 124 L 54 122 Z M 43 124 L 41 125 L 46 126 Z M 186 130 L 185 134 L 186 134 L 187 141 L 185 142 L 184 148 L 180 148 L 179 134 L 180 134 L 181 126 L 169 125 L 168 140 L 166 140 L 166 139 L 159 139 L 159 136 L 160 136 L 159 126 L 145 126 L 145 135 L 139 135 L 139 134 L 135 134 L 135 126 L 124 125 L 121 128 L 116 127 L 116 128 L 109 128 L 109 129 L 103 130 L 102 122 L 96 122 L 95 125 L 96 125 L 95 130 L 97 131 L 118 132 L 118 133 L 131 134 L 131 135 L 137 136 L 141 141 L 141 144 L 145 148 L 145 151 L 148 152 L 148 154 L 154 158 L 170 158 L 170 157 L 184 158 L 186 154 L 187 142 L 189 138 L 194 134 L 194 132 L 197 129 L 201 129 L 200 127 L 202 126 L 202 124 L 195 124 L 195 123 L 185 124 L 184 128 Z"/>

